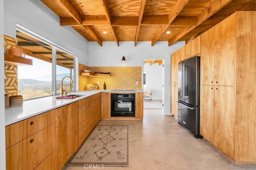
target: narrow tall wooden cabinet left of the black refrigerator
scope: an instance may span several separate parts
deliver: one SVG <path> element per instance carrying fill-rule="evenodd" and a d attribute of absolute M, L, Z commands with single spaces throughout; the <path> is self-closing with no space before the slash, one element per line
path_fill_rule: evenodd
<path fill-rule="evenodd" d="M 178 118 L 178 64 L 180 62 L 180 50 L 171 55 L 171 113 Z"/>

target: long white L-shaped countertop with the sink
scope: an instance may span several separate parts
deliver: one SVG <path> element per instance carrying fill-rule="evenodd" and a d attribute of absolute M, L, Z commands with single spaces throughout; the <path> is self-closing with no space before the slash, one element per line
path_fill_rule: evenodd
<path fill-rule="evenodd" d="M 83 98 L 92 96 L 100 92 L 143 92 L 143 90 L 136 91 L 111 91 L 111 90 L 93 90 L 93 91 L 82 91 L 82 92 L 70 92 L 69 94 L 84 95 L 75 99 L 56 99 L 57 96 L 49 96 L 44 98 L 38 98 L 33 100 L 23 101 L 22 106 L 9 107 L 5 109 L 5 125 L 8 126 L 12 123 L 28 119 L 30 117 L 39 115 L 46 111 L 56 109 L 58 107 L 76 102 Z"/>

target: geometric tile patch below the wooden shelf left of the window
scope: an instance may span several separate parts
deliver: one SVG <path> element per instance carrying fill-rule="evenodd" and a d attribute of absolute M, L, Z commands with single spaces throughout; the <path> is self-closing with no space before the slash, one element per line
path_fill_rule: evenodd
<path fill-rule="evenodd" d="M 4 91 L 9 96 L 18 95 L 18 66 L 4 64 Z"/>

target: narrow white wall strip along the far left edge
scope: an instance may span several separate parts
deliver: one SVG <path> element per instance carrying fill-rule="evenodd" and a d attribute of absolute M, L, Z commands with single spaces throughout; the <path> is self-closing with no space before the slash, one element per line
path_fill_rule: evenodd
<path fill-rule="evenodd" d="M 5 167 L 5 111 L 4 111 L 4 2 L 0 0 L 0 169 Z"/>

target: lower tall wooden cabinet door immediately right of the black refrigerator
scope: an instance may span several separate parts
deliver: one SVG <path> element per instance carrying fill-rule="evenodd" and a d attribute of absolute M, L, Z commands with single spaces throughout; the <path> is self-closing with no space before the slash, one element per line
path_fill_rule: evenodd
<path fill-rule="evenodd" d="M 214 86 L 200 86 L 200 135 L 214 143 Z"/>

